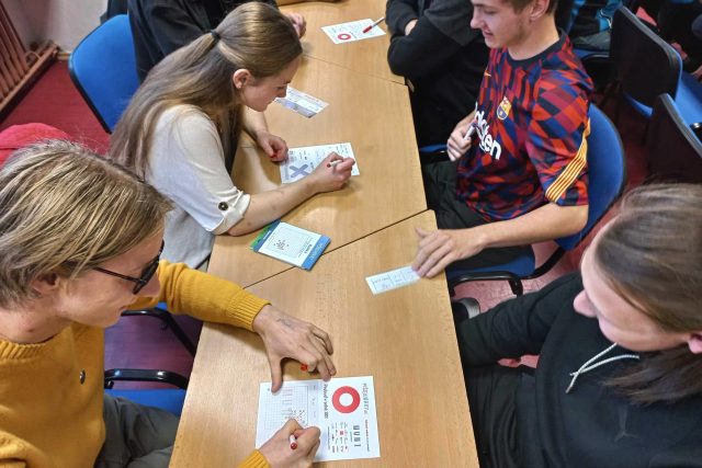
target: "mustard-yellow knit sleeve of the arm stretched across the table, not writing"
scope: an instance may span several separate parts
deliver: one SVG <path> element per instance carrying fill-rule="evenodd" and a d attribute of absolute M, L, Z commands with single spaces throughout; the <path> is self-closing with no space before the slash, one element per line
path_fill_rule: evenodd
<path fill-rule="evenodd" d="M 253 319 L 270 304 L 240 286 L 189 269 L 184 263 L 162 260 L 158 267 L 158 297 L 139 298 L 129 309 L 144 309 L 165 301 L 171 313 L 188 313 L 200 320 L 227 323 L 252 331 Z"/>

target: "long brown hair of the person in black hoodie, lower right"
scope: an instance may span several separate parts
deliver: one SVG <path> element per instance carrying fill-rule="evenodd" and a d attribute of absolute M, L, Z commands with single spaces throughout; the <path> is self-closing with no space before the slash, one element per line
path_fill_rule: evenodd
<path fill-rule="evenodd" d="M 593 246 L 605 282 L 661 330 L 702 330 L 702 185 L 637 187 Z M 610 379 L 633 401 L 676 401 L 702 393 L 702 356 L 687 345 L 646 353 Z"/>

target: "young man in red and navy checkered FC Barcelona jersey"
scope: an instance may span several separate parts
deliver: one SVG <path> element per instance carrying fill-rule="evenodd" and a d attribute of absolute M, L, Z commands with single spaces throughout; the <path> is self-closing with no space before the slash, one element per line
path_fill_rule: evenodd
<path fill-rule="evenodd" d="M 428 165 L 439 230 L 417 230 L 412 266 L 505 263 L 533 242 L 582 229 L 592 82 L 555 25 L 556 0 L 473 0 L 471 26 L 490 47 L 475 111 L 448 141 L 452 161 Z M 457 162 L 455 162 L 457 161 Z"/>

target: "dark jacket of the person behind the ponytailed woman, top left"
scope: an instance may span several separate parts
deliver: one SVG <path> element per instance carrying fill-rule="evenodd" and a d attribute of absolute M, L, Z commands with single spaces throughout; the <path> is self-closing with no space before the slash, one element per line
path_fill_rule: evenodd
<path fill-rule="evenodd" d="M 208 32 L 251 0 L 129 0 L 128 12 L 139 80 L 171 52 Z M 259 0 L 275 5 L 274 0 Z"/>

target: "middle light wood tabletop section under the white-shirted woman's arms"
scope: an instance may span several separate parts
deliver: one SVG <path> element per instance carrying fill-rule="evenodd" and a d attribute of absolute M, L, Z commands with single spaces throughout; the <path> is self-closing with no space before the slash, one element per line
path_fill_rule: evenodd
<path fill-rule="evenodd" d="M 327 252 L 427 209 L 407 88 L 306 57 L 292 85 L 329 103 L 312 118 L 272 103 L 270 130 L 288 147 L 350 141 L 360 175 L 338 192 L 315 195 L 283 217 L 331 238 Z M 280 184 L 280 169 L 250 139 L 242 139 L 233 170 L 247 193 Z M 218 236 L 210 271 L 241 286 L 288 270 L 251 251 L 257 232 Z"/>

